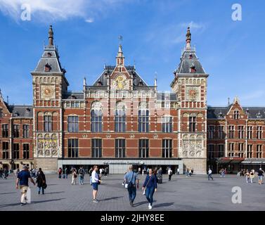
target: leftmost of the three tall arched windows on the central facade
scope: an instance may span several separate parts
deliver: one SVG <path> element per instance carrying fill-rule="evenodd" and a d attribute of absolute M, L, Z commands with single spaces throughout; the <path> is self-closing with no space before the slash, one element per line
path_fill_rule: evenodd
<path fill-rule="evenodd" d="M 91 105 L 91 132 L 102 132 L 102 105 L 99 101 Z"/>

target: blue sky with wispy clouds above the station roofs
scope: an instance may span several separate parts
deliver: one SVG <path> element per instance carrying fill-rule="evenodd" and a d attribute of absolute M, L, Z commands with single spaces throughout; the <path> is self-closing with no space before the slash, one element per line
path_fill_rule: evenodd
<path fill-rule="evenodd" d="M 22 21 L 21 5 L 31 20 Z M 231 6 L 242 6 L 233 21 Z M 32 77 L 48 42 L 49 25 L 67 70 L 69 89 L 92 84 L 104 63 L 115 65 L 122 34 L 126 64 L 159 90 L 170 90 L 190 26 L 203 68 L 209 73 L 208 105 L 226 105 L 239 96 L 245 106 L 265 106 L 264 6 L 257 1 L 224 0 L 0 0 L 0 88 L 9 102 L 32 104 Z"/>

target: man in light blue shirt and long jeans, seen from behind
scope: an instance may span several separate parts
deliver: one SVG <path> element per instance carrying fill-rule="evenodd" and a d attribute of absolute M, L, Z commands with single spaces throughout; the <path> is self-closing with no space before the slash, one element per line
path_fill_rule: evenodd
<path fill-rule="evenodd" d="M 133 167 L 129 166 L 129 171 L 124 176 L 125 185 L 129 193 L 129 203 L 134 207 L 134 199 L 136 198 L 136 187 L 139 188 L 139 179 Z"/>

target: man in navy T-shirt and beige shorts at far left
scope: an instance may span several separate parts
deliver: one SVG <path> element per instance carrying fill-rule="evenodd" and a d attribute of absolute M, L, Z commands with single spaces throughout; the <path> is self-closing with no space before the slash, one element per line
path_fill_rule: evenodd
<path fill-rule="evenodd" d="M 15 188 L 18 189 L 19 187 L 21 190 L 21 200 L 20 200 L 21 205 L 27 204 L 27 190 L 29 188 L 29 179 L 32 182 L 32 184 L 35 185 L 34 180 L 30 176 L 29 169 L 27 168 L 27 166 L 23 165 L 22 171 L 18 173 L 18 178 L 15 183 Z"/>

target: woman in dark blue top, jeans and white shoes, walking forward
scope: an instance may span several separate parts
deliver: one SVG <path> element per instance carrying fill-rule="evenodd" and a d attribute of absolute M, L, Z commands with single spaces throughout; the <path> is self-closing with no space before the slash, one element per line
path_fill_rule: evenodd
<path fill-rule="evenodd" d="M 143 190 L 146 189 L 146 199 L 149 202 L 148 209 L 152 210 L 153 195 L 157 191 L 157 176 L 153 169 L 149 169 L 149 174 L 146 176 L 146 181 L 143 184 Z"/>

